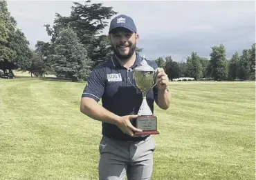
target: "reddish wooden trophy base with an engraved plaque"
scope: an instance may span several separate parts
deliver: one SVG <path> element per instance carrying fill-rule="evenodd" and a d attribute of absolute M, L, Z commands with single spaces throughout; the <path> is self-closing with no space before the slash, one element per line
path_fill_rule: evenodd
<path fill-rule="evenodd" d="M 134 127 L 143 130 L 143 132 L 135 132 L 136 136 L 160 134 L 157 130 L 157 118 L 154 115 L 138 116 L 133 122 Z"/>

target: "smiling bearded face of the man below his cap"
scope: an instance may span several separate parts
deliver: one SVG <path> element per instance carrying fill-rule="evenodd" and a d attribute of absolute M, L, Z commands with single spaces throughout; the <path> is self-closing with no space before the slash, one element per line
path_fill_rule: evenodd
<path fill-rule="evenodd" d="M 111 47 L 120 60 L 128 59 L 134 54 L 137 42 L 138 34 L 125 28 L 115 28 L 110 33 Z"/>

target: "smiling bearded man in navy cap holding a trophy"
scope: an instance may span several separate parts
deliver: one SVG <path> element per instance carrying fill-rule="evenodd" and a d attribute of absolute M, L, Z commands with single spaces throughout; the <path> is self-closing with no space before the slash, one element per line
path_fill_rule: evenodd
<path fill-rule="evenodd" d="M 115 17 L 110 23 L 109 41 L 113 56 L 91 72 L 82 94 L 80 111 L 102 121 L 99 179 L 147 180 L 152 176 L 156 146 L 150 135 L 134 136 L 134 132 L 142 130 L 131 123 L 131 119 L 138 117 L 143 98 L 133 86 L 134 77 L 129 72 L 130 68 L 140 65 L 141 59 L 135 51 L 138 33 L 133 19 L 125 15 Z M 157 68 L 156 63 L 147 63 Z M 158 68 L 157 73 L 157 86 L 147 93 L 152 112 L 154 101 L 165 110 L 170 106 L 169 79 L 162 68 Z M 98 104 L 100 99 L 102 106 Z"/>

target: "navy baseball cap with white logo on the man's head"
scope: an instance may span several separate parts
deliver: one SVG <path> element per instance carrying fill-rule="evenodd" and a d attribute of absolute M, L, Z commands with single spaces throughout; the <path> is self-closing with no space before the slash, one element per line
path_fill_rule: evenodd
<path fill-rule="evenodd" d="M 137 28 L 135 26 L 134 20 L 131 19 L 131 17 L 128 17 L 124 14 L 120 14 L 119 16 L 115 17 L 111 20 L 110 26 L 109 26 L 109 32 L 113 30 L 114 28 L 127 28 L 131 32 L 137 33 Z"/>

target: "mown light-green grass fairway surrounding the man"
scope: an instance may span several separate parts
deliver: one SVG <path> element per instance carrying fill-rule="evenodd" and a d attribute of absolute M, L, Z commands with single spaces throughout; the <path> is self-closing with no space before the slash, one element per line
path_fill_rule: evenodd
<path fill-rule="evenodd" d="M 101 123 L 80 112 L 85 83 L 0 79 L 0 179 L 98 179 Z M 170 82 L 155 105 L 152 180 L 255 179 L 255 82 Z"/>

